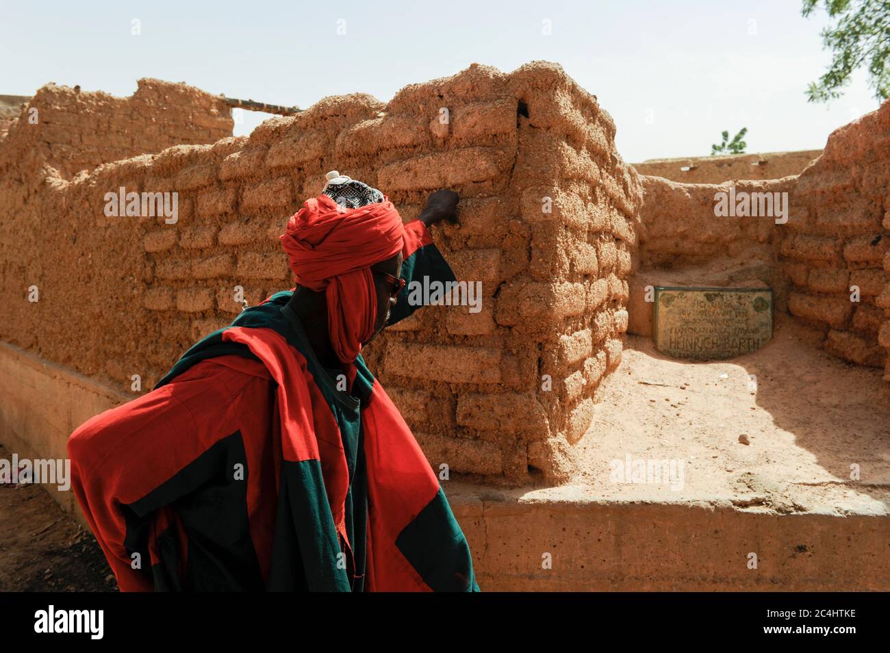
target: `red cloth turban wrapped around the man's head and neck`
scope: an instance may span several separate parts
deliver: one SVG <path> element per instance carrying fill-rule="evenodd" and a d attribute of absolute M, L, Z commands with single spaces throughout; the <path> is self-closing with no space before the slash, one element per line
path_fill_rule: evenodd
<path fill-rule="evenodd" d="M 303 202 L 280 236 L 296 283 L 325 291 L 331 346 L 344 363 L 352 363 L 374 334 L 377 295 L 369 268 L 401 252 L 403 234 L 401 216 L 386 196 L 344 209 L 320 195 Z"/>

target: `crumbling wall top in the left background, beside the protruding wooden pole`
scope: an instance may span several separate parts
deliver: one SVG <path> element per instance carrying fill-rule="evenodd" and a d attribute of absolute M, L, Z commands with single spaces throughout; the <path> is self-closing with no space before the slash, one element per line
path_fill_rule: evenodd
<path fill-rule="evenodd" d="M 45 85 L 0 141 L 19 173 L 49 165 L 62 177 L 178 144 L 231 136 L 231 109 L 218 96 L 184 84 L 140 79 L 128 98 Z"/>

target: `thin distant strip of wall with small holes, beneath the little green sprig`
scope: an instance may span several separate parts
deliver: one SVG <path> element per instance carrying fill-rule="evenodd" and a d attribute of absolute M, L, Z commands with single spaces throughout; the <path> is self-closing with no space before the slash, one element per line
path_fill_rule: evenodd
<path fill-rule="evenodd" d="M 652 158 L 633 164 L 636 172 L 683 183 L 721 183 L 752 179 L 781 179 L 801 173 L 820 149 L 725 157 Z"/>

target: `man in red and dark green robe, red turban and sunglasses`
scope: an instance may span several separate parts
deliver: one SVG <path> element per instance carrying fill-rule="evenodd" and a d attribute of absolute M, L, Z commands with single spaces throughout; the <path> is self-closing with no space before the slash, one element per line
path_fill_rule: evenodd
<path fill-rule="evenodd" d="M 281 236 L 294 291 L 206 336 L 156 388 L 69 439 L 72 485 L 121 590 L 478 592 L 430 465 L 361 359 L 454 280 L 427 226 L 328 173 Z"/>

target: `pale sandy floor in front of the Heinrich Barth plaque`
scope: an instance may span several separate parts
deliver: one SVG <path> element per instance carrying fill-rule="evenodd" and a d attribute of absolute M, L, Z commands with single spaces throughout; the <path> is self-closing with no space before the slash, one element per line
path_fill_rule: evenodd
<path fill-rule="evenodd" d="M 886 514 L 885 385 L 880 370 L 835 359 L 781 323 L 762 350 L 713 363 L 667 359 L 651 340 L 629 336 L 618 371 L 603 384 L 595 421 L 578 442 L 583 471 L 571 485 L 594 500 Z M 670 482 L 627 482 L 628 455 L 647 465 L 673 460 Z M 858 465 L 859 480 L 851 479 L 851 465 Z M 657 480 L 648 468 L 645 480 Z"/>

